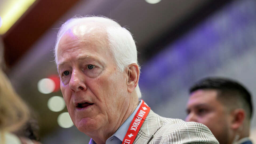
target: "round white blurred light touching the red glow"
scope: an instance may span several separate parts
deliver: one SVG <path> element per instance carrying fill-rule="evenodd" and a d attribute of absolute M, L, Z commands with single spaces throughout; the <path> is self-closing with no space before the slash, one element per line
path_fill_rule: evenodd
<path fill-rule="evenodd" d="M 43 78 L 37 83 L 38 91 L 43 94 L 52 93 L 55 89 L 55 83 L 52 79 Z"/>

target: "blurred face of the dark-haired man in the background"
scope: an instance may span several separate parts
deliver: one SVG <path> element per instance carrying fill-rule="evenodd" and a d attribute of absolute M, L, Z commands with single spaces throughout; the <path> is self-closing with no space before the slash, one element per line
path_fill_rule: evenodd
<path fill-rule="evenodd" d="M 218 101 L 216 90 L 197 90 L 189 97 L 186 121 L 206 125 L 219 143 L 227 143 L 230 125 L 227 111 Z"/>

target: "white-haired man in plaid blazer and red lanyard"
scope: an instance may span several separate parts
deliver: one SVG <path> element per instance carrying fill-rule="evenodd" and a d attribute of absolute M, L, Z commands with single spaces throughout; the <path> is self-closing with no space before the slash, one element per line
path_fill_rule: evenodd
<path fill-rule="evenodd" d="M 117 22 L 68 20 L 57 35 L 55 61 L 69 115 L 89 143 L 218 143 L 206 126 L 160 117 L 138 100 L 136 46 Z"/>

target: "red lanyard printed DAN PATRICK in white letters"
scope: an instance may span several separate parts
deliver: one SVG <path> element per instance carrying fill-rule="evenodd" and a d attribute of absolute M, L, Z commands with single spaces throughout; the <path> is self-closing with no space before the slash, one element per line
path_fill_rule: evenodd
<path fill-rule="evenodd" d="M 139 129 L 141 128 L 142 123 L 145 121 L 147 114 L 149 114 L 150 107 L 142 100 L 142 104 L 139 107 L 139 110 L 135 114 L 133 121 L 125 134 L 122 144 L 132 144 L 136 138 Z"/>

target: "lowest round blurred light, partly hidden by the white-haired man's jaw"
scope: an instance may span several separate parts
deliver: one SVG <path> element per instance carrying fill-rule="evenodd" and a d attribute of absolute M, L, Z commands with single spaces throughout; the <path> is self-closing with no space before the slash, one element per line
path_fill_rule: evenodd
<path fill-rule="evenodd" d="M 63 127 L 63 128 L 69 128 L 74 125 L 68 112 L 61 113 L 58 116 L 57 121 L 58 121 L 59 126 Z"/>

